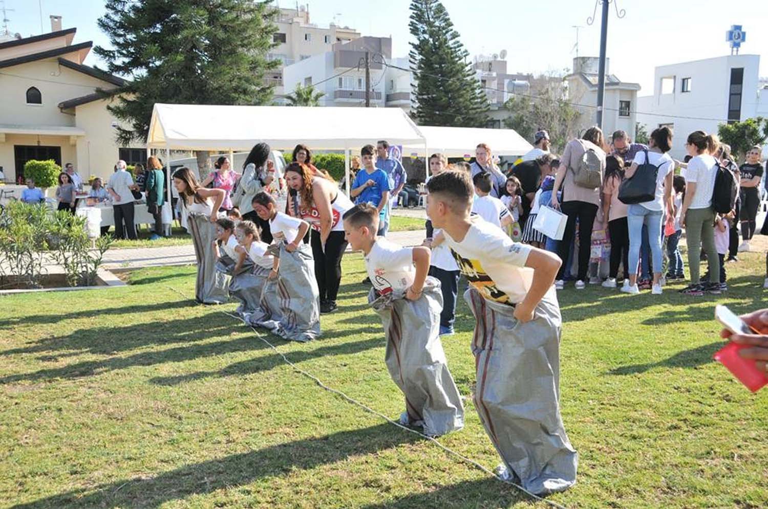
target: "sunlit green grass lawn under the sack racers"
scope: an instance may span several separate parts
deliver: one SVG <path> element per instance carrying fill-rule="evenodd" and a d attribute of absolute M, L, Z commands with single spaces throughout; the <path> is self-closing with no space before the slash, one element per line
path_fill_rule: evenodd
<path fill-rule="evenodd" d="M 559 293 L 561 405 L 580 454 L 566 507 L 768 507 L 768 390 L 711 360 L 715 302 L 765 306 L 763 255 L 728 265 L 730 292 Z M 402 396 L 366 304 L 362 259 L 344 259 L 323 339 L 280 352 L 396 418 Z M 131 286 L 2 298 L 2 507 L 547 507 L 286 366 L 257 335 L 199 306 L 194 267 L 144 269 Z M 472 393 L 473 320 L 443 340 Z M 498 463 L 471 399 L 439 441 Z"/>

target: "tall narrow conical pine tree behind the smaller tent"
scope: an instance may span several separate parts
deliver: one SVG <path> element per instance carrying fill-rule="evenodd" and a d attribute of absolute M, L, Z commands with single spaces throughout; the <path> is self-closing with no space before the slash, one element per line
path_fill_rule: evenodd
<path fill-rule="evenodd" d="M 412 117 L 421 125 L 485 127 L 488 99 L 475 78 L 469 55 L 451 18 L 438 0 L 411 2 L 409 53 L 415 107 Z"/>

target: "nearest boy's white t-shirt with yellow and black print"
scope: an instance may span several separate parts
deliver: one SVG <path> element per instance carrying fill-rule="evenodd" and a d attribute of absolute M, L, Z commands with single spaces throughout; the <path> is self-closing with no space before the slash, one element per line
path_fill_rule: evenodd
<path fill-rule="evenodd" d="M 458 268 L 485 299 L 510 305 L 525 299 L 533 281 L 533 269 L 525 266 L 531 246 L 514 242 L 500 228 L 477 218 L 472 218 L 461 242 L 443 234 Z M 554 286 L 547 296 L 556 298 Z"/>

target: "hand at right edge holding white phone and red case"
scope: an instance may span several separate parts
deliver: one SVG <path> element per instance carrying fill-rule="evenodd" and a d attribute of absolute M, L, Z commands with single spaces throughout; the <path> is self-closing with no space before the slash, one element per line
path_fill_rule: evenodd
<path fill-rule="evenodd" d="M 714 359 L 752 392 L 768 384 L 768 335 L 761 334 L 766 331 L 761 324 L 764 322 L 768 327 L 768 310 L 739 317 L 727 307 L 718 305 L 715 306 L 715 319 L 725 327 L 720 335 L 732 341 L 716 352 Z"/>

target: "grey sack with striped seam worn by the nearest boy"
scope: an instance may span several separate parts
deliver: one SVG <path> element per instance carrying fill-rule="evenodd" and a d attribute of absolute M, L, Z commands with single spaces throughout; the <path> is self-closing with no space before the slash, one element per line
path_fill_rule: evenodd
<path fill-rule="evenodd" d="M 576 484 L 578 454 L 560 415 L 560 308 L 545 296 L 535 319 L 521 323 L 515 309 L 482 298 L 470 287 L 464 299 L 477 319 L 472 353 L 475 408 L 508 471 L 531 493 Z"/>

